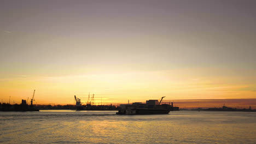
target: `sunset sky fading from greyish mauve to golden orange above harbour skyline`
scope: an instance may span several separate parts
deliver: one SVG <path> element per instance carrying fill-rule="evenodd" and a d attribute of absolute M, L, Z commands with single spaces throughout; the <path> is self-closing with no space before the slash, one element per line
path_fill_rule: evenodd
<path fill-rule="evenodd" d="M 256 98 L 255 1 L 0 2 L 0 97 Z"/>

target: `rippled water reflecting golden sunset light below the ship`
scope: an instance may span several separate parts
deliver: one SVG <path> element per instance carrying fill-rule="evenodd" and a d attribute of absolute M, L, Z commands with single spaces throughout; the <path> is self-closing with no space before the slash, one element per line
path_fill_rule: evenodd
<path fill-rule="evenodd" d="M 0 112 L 0 143 L 256 143 L 256 112 Z"/>

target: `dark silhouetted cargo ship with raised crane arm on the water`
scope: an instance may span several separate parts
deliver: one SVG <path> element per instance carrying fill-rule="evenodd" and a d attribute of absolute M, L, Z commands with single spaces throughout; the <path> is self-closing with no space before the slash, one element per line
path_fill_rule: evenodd
<path fill-rule="evenodd" d="M 118 110 L 118 115 L 159 115 L 159 114 L 168 114 L 170 111 L 178 111 L 179 107 L 173 107 L 173 103 L 170 104 L 161 104 L 162 97 L 160 102 L 158 100 L 147 100 L 146 104 L 141 102 L 130 104 L 121 104 L 120 109 Z"/>

